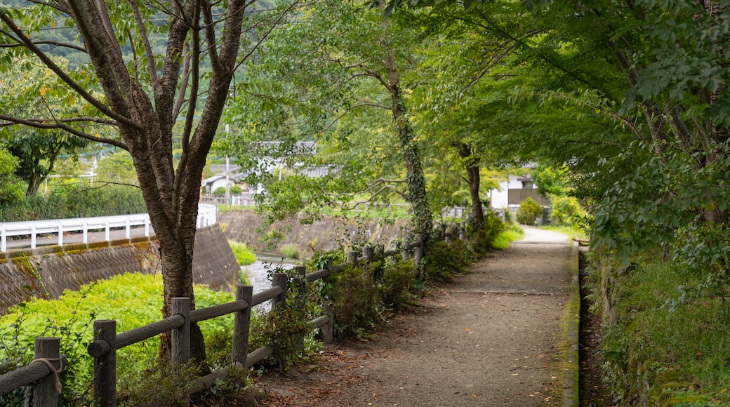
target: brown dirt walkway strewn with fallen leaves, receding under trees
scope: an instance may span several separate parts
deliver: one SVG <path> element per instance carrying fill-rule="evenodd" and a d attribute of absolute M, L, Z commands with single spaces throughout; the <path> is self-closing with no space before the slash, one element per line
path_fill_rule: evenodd
<path fill-rule="evenodd" d="M 566 236 L 526 228 L 367 342 L 259 380 L 268 406 L 561 405 L 572 275 Z"/>

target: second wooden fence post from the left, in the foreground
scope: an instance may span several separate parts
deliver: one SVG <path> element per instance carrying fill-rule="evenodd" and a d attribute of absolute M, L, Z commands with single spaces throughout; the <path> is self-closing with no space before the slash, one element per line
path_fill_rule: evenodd
<path fill-rule="evenodd" d="M 99 319 L 93 322 L 94 341 L 106 341 L 109 352 L 93 358 L 93 398 L 97 407 L 117 405 L 117 322 Z"/>

